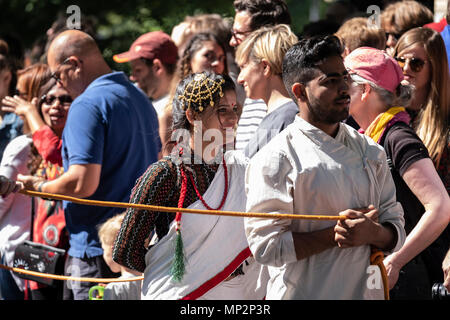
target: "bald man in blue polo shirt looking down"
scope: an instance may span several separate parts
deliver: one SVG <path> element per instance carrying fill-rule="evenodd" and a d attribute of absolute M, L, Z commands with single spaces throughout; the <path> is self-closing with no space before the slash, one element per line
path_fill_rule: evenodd
<path fill-rule="evenodd" d="M 63 132 L 64 174 L 52 181 L 22 177 L 27 189 L 128 202 L 135 181 L 161 149 L 156 111 L 123 72 L 112 72 L 95 41 L 69 30 L 48 49 L 52 76 L 74 99 Z M 66 275 L 110 277 L 97 226 L 121 209 L 65 202 L 70 235 Z M 65 286 L 65 299 L 88 299 L 92 283 Z"/>

